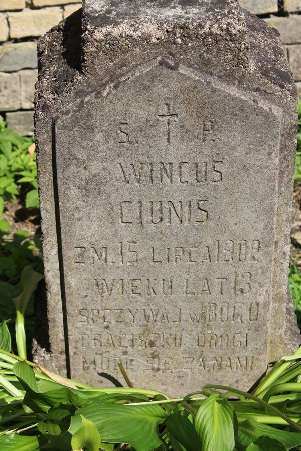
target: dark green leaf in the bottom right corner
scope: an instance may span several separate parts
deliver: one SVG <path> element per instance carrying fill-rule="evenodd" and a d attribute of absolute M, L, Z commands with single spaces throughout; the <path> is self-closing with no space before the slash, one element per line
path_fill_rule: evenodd
<path fill-rule="evenodd" d="M 239 425 L 238 443 L 248 446 L 261 435 L 280 441 L 286 449 L 301 445 L 301 432 L 287 432 L 266 424 L 257 423 L 257 421 L 252 419 L 247 419 Z"/>

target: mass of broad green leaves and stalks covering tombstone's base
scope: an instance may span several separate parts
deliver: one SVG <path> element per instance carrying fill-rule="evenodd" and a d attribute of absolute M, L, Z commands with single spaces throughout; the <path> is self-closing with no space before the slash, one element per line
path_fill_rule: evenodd
<path fill-rule="evenodd" d="M 0 325 L 0 342 L 6 334 Z M 170 399 L 154 391 L 97 389 L 64 378 L 60 384 L 0 349 L 0 449 L 298 450 L 300 379 L 301 348 L 279 360 L 252 394 L 208 385 Z"/>

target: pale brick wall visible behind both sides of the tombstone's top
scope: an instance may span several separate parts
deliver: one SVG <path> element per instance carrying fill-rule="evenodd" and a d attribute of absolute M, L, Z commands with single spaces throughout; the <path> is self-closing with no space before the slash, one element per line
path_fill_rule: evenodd
<path fill-rule="evenodd" d="M 301 95 L 301 0 L 240 0 L 279 30 Z M 20 134 L 33 130 L 37 38 L 80 8 L 78 0 L 0 0 L 0 114 Z"/>

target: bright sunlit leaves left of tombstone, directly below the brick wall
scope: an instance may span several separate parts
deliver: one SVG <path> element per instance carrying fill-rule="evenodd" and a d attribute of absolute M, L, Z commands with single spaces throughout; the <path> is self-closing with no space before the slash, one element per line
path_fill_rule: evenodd
<path fill-rule="evenodd" d="M 19 196 L 20 183 L 28 191 L 26 207 L 39 206 L 35 155 L 28 152 L 32 143 L 32 138 L 22 137 L 6 128 L 4 122 L 0 123 L 0 215 L 4 210 L 4 201 L 12 201 Z"/>

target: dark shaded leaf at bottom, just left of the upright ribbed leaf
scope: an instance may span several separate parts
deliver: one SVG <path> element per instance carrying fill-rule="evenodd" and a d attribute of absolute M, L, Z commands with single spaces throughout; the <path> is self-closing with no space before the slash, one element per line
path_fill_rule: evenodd
<path fill-rule="evenodd" d="M 169 434 L 176 438 L 185 447 L 186 451 L 195 451 L 196 449 L 201 449 L 202 445 L 188 416 L 187 410 L 176 407 L 165 420 L 165 424 Z"/>

